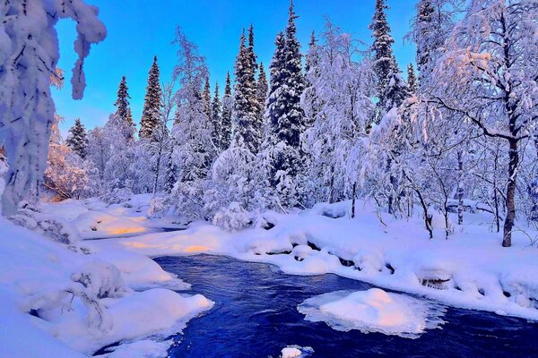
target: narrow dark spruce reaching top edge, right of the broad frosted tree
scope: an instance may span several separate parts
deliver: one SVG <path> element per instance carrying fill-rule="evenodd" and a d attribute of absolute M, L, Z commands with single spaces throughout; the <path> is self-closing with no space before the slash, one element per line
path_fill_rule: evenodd
<path fill-rule="evenodd" d="M 369 28 L 372 30 L 374 44 L 374 70 L 377 74 L 377 98 L 379 99 L 377 115 L 374 121 L 379 123 L 381 117 L 386 114 L 387 98 L 386 90 L 389 81 L 395 73 L 399 73 L 392 45 L 395 43 L 391 36 L 390 26 L 386 21 L 386 0 L 376 0 L 376 12 Z M 388 108 L 390 109 L 390 108 Z"/>

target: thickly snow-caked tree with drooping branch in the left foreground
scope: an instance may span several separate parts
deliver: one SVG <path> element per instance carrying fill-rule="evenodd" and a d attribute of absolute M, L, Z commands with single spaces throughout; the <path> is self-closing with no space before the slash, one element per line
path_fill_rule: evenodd
<path fill-rule="evenodd" d="M 47 166 L 48 137 L 55 108 L 49 86 L 59 57 L 56 23 L 77 23 L 73 98 L 82 98 L 84 59 L 91 44 L 106 37 L 98 10 L 83 0 L 14 1 L 0 5 L 0 140 L 9 162 L 2 204 L 12 215 L 29 192 L 37 194 Z M 32 95 L 29 95 L 32 94 Z"/>

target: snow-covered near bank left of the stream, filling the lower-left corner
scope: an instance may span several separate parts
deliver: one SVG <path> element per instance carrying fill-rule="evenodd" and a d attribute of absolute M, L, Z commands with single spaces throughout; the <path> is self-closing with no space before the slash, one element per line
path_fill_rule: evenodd
<path fill-rule="evenodd" d="M 109 215 L 89 212 L 80 202 L 55 207 L 44 212 L 75 219 L 79 229 L 88 217 Z M 124 223 L 136 221 L 118 217 L 103 231 Z M 160 356 L 171 344 L 162 342 L 167 333 L 213 306 L 200 294 L 162 288 L 188 285 L 142 254 L 102 250 L 88 241 L 67 246 L 4 217 L 0 227 L 1 357 L 86 356 L 146 337 L 152 339 L 119 345 L 110 357 Z"/>

